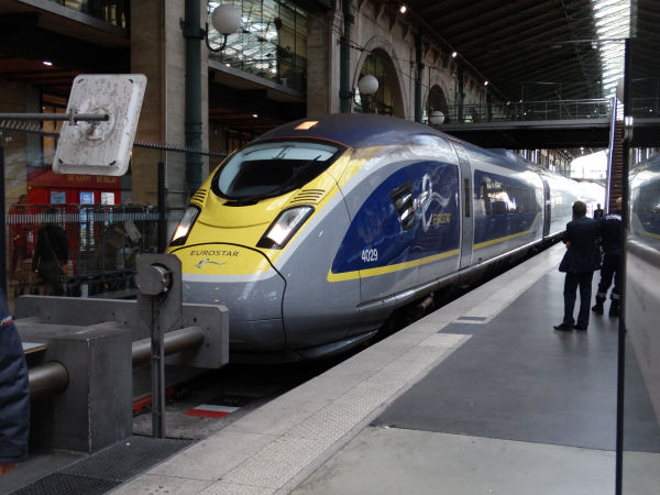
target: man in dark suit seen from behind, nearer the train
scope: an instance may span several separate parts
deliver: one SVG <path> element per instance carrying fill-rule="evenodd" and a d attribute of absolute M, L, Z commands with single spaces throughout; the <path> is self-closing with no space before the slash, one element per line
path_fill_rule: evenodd
<path fill-rule="evenodd" d="M 582 201 L 573 204 L 573 221 L 566 224 L 563 242 L 566 252 L 559 264 L 559 271 L 565 272 L 564 280 L 564 318 L 554 330 L 585 331 L 588 327 L 592 278 L 594 271 L 601 267 L 598 248 L 600 229 L 597 220 L 586 217 L 586 205 Z M 575 293 L 580 287 L 580 312 L 578 323 L 573 319 Z"/>

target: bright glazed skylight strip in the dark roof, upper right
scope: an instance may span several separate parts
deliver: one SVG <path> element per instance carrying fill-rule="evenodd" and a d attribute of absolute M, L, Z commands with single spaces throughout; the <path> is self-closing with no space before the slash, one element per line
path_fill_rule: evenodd
<path fill-rule="evenodd" d="M 625 38 L 630 34 L 629 0 L 592 0 L 603 67 L 603 96 L 613 97 L 624 77 Z"/>

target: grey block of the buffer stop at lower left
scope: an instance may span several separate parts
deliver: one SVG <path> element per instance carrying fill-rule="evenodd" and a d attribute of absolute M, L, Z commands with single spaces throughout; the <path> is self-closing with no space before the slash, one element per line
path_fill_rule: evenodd
<path fill-rule="evenodd" d="M 41 362 L 59 362 L 69 375 L 63 394 L 33 403 L 33 443 L 92 453 L 131 435 L 129 329 L 116 322 L 75 327 L 21 320 L 16 328 L 23 342 L 46 343 Z"/>

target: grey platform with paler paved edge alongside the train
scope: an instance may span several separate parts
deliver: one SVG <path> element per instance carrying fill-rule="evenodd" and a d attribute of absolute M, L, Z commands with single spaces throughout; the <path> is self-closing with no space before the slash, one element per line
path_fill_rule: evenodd
<path fill-rule="evenodd" d="M 552 330 L 563 314 L 563 250 L 547 250 L 113 493 L 614 493 L 618 321 L 592 315 L 587 332 Z M 641 393 L 639 402 L 645 410 Z M 640 425 L 628 459 L 644 470 L 660 462 L 660 433 L 654 421 Z M 629 481 L 629 493 L 657 493 L 660 473 L 648 472 Z"/>

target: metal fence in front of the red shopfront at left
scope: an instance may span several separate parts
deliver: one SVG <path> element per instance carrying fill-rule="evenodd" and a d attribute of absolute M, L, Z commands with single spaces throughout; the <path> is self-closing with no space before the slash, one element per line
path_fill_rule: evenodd
<path fill-rule="evenodd" d="M 66 233 L 64 271 L 67 296 L 131 297 L 135 257 L 156 252 L 157 208 L 151 205 L 14 205 L 7 215 L 8 286 L 15 296 L 44 294 L 35 273 L 40 228 L 56 224 Z"/>

